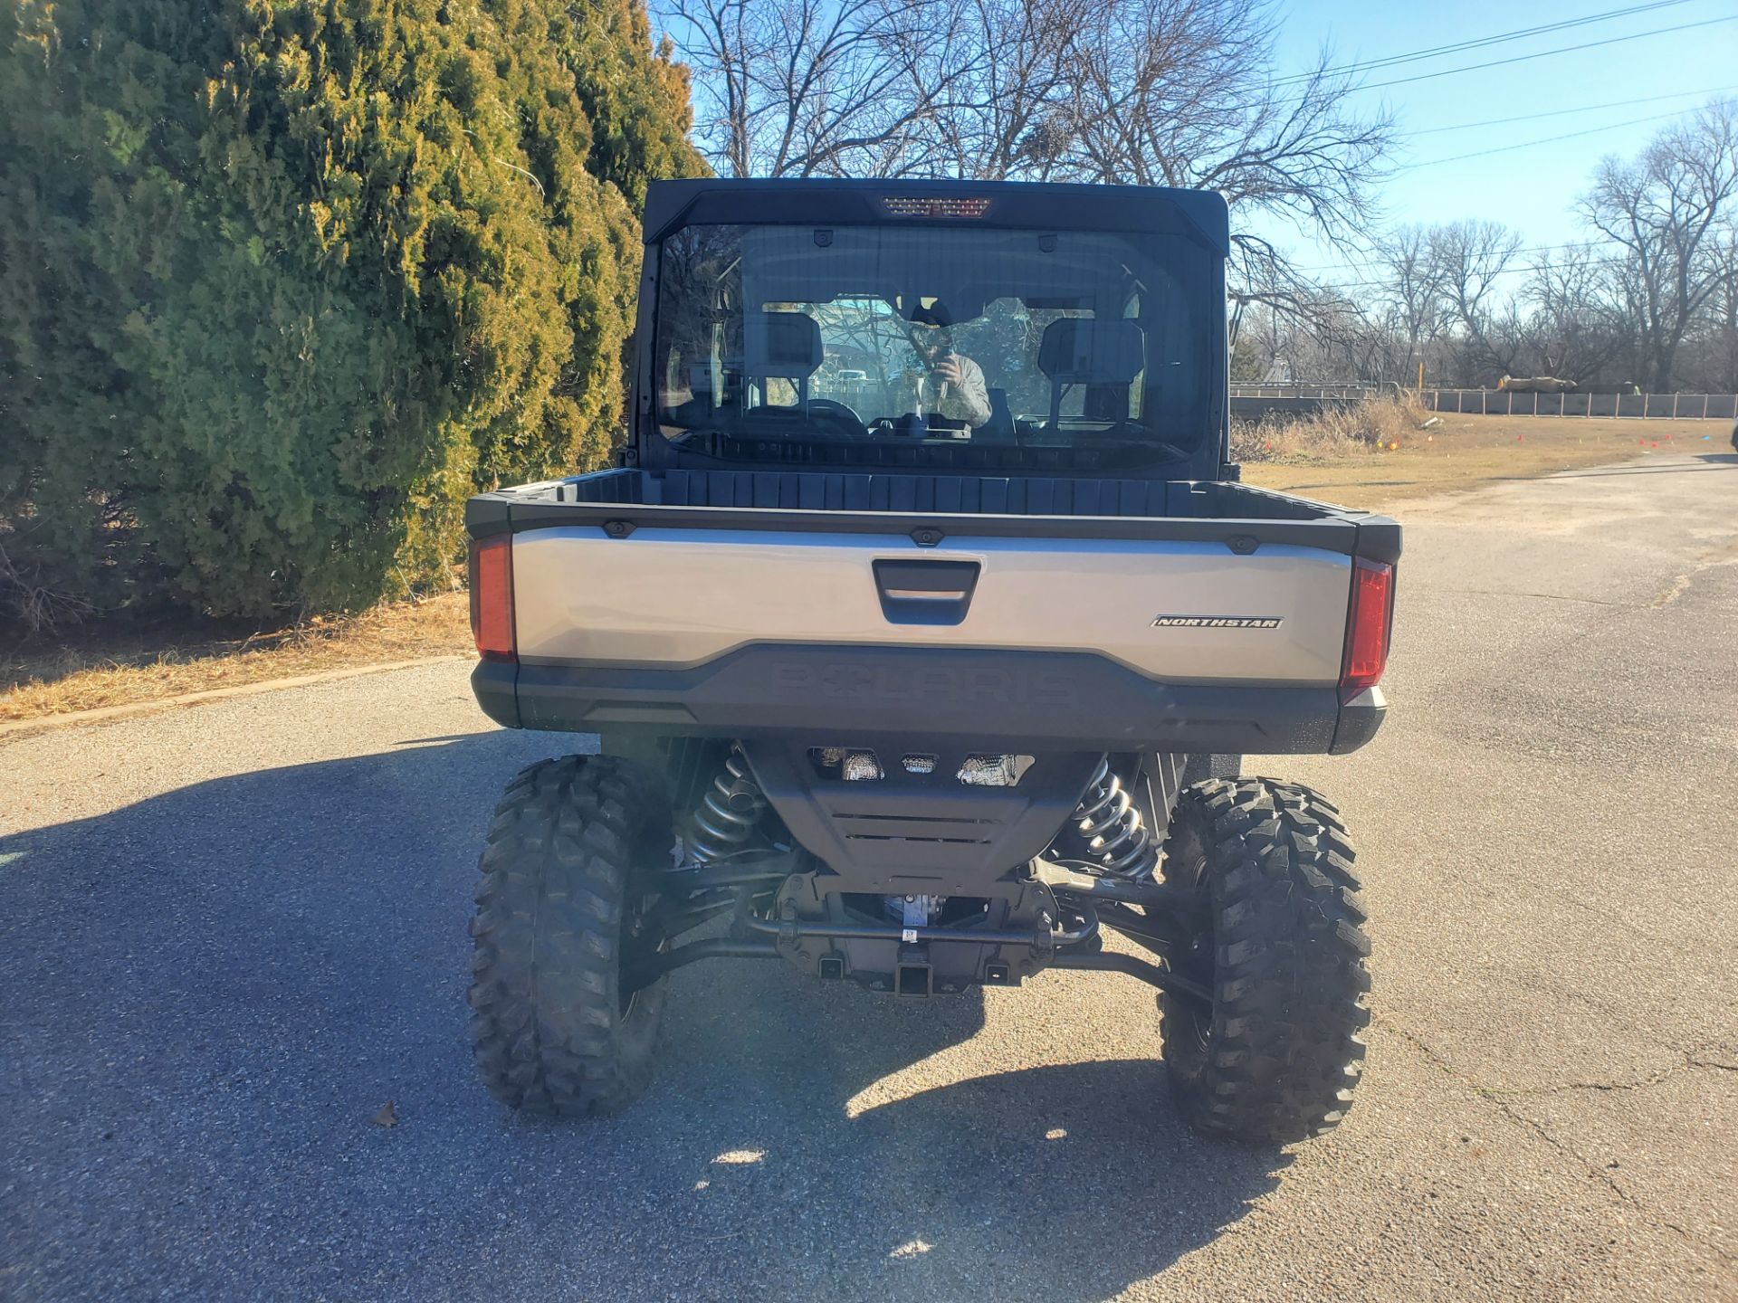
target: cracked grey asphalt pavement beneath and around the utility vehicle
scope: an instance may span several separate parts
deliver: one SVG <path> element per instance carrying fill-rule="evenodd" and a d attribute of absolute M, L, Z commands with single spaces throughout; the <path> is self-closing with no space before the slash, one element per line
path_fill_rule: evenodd
<path fill-rule="evenodd" d="M 506 1114 L 474 855 L 572 740 L 440 665 L 0 749 L 0 1296 L 1738 1298 L 1738 459 L 1404 519 L 1385 731 L 1250 763 L 1361 839 L 1331 1136 L 1189 1134 L 1126 978 L 772 964 L 674 978 L 629 1114 Z"/>

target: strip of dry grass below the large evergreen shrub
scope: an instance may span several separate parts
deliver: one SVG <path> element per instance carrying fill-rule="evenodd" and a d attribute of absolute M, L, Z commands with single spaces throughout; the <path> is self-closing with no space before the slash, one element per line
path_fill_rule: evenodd
<path fill-rule="evenodd" d="M 139 632 L 56 646 L 26 645 L 0 655 L 0 721 L 469 652 L 462 592 L 389 603 L 362 615 L 311 620 L 252 638 Z"/>

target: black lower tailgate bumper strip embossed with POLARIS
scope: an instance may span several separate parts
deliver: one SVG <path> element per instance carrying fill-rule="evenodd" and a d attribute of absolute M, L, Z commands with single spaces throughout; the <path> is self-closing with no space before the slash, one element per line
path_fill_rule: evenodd
<path fill-rule="evenodd" d="M 692 669 L 483 660 L 499 724 L 572 733 L 897 735 L 1027 751 L 1343 754 L 1382 726 L 1378 688 L 1156 683 L 1090 653 L 753 645 Z"/>

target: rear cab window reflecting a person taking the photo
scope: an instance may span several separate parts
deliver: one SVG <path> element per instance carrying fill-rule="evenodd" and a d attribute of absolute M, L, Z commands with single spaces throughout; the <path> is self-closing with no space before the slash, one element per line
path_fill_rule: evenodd
<path fill-rule="evenodd" d="M 1171 235 L 688 226 L 659 257 L 657 422 L 725 459 L 1182 457 L 1218 429 L 1215 271 Z"/>

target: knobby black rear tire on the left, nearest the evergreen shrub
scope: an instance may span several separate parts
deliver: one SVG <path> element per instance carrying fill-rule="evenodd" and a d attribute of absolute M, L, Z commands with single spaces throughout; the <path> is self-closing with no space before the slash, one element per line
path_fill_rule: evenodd
<path fill-rule="evenodd" d="M 471 1041 L 490 1093 L 542 1114 L 614 1112 L 650 1082 L 666 982 L 622 966 L 669 867 L 669 803 L 615 756 L 523 770 L 495 806 L 471 923 Z"/>

